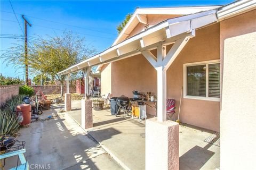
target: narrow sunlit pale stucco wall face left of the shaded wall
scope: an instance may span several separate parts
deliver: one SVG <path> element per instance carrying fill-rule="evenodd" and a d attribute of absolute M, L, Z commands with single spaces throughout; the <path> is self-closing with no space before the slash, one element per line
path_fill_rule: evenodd
<path fill-rule="evenodd" d="M 111 63 L 101 67 L 101 95 L 111 94 Z"/>

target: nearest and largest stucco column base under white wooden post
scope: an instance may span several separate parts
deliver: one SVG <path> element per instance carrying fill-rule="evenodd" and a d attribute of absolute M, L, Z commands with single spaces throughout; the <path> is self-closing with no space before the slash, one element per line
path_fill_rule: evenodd
<path fill-rule="evenodd" d="M 179 169 L 179 124 L 146 120 L 146 170 Z"/>

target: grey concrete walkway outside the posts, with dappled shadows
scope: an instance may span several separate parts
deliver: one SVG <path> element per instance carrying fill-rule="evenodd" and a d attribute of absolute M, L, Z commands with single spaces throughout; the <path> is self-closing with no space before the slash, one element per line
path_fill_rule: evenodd
<path fill-rule="evenodd" d="M 53 105 L 39 117 L 57 115 L 63 104 Z M 50 165 L 51 169 L 123 169 L 66 113 L 21 128 L 18 140 L 26 141 L 30 165 Z M 6 159 L 5 169 L 17 165 L 18 157 Z M 33 168 L 31 167 L 31 168 Z"/>

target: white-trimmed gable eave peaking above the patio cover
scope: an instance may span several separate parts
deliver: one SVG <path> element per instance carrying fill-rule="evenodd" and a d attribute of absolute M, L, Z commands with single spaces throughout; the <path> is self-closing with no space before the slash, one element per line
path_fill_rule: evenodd
<path fill-rule="evenodd" d="M 220 6 L 190 6 L 190 7 L 158 7 L 158 8 L 137 8 L 133 13 L 131 19 L 125 25 L 124 29 L 118 35 L 116 40 L 114 41 L 113 45 L 121 43 L 125 40 L 132 30 L 139 24 L 147 24 L 147 15 L 154 14 L 154 15 L 175 15 L 175 16 L 182 16 L 182 15 L 189 15 L 203 11 L 213 10 Z M 170 19 L 170 18 L 169 18 Z M 154 25 L 149 25 L 152 27 Z"/>

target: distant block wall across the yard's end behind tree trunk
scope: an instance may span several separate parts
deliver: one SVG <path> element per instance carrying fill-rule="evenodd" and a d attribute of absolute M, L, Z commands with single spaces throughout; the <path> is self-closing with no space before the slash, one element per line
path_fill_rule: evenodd
<path fill-rule="evenodd" d="M 60 85 L 47 85 L 47 86 L 31 86 L 35 89 L 35 91 L 42 90 L 45 95 L 51 95 L 51 94 L 60 94 Z M 66 86 L 63 86 L 63 92 L 65 93 L 67 91 Z M 76 93 L 76 86 L 75 85 L 69 85 L 69 93 L 74 94 Z"/>

